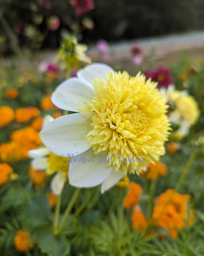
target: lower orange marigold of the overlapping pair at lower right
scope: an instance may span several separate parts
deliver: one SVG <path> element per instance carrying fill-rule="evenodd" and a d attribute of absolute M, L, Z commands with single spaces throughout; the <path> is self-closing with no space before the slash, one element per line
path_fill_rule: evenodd
<path fill-rule="evenodd" d="M 184 227 L 180 215 L 172 204 L 159 204 L 154 207 L 151 223 L 155 226 L 166 228 L 172 238 L 178 237 L 178 230 Z"/>

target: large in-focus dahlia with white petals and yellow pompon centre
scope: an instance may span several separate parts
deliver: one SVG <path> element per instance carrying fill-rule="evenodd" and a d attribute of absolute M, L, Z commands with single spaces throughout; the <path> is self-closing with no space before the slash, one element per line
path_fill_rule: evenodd
<path fill-rule="evenodd" d="M 40 136 L 56 155 L 72 156 L 70 184 L 91 187 L 102 183 L 103 192 L 128 170 L 140 173 L 165 153 L 167 106 L 156 86 L 140 73 L 132 77 L 93 64 L 57 87 L 52 102 L 78 113 L 55 119 Z"/>

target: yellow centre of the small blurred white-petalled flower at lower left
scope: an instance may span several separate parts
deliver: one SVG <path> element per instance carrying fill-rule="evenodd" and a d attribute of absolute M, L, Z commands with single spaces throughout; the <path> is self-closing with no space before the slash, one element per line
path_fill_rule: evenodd
<path fill-rule="evenodd" d="M 51 153 L 51 155 L 47 159 L 48 168 L 47 168 L 47 174 L 52 175 L 56 171 L 62 171 L 64 174 L 68 173 L 69 170 L 69 158 L 66 158 L 64 156 L 58 156 L 54 153 Z"/>

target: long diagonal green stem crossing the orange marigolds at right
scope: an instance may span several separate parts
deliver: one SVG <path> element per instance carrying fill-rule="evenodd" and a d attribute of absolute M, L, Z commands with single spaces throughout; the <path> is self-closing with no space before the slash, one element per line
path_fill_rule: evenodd
<path fill-rule="evenodd" d="M 182 173 L 180 179 L 178 180 L 173 193 L 171 194 L 170 198 L 166 201 L 166 203 L 165 203 L 162 211 L 158 215 L 158 217 L 153 222 L 157 221 L 161 217 L 161 215 L 162 215 L 163 211 L 165 210 L 166 206 L 168 206 L 168 204 L 170 203 L 173 195 L 175 194 L 176 191 L 179 190 L 181 184 L 183 183 L 184 179 L 186 178 L 186 176 L 187 176 L 187 174 L 190 170 L 191 165 L 193 164 L 193 161 L 194 161 L 195 157 L 196 157 L 196 150 L 194 150 L 193 153 L 191 154 L 191 157 L 189 158 L 188 163 L 187 163 L 186 167 L 184 168 L 183 173 Z"/>

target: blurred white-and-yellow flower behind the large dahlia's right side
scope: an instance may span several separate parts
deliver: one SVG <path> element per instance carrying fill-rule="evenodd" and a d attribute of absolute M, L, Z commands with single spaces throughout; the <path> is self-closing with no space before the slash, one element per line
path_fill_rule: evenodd
<path fill-rule="evenodd" d="M 170 104 L 168 113 L 169 121 L 179 125 L 173 136 L 183 138 L 189 134 L 189 129 L 194 125 L 199 117 L 199 108 L 194 98 L 188 95 L 187 90 L 175 90 L 174 85 L 168 88 L 160 88 L 163 98 Z M 176 137 L 175 137 L 176 138 Z"/>

